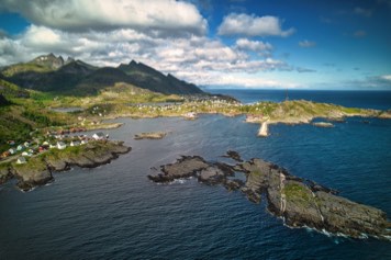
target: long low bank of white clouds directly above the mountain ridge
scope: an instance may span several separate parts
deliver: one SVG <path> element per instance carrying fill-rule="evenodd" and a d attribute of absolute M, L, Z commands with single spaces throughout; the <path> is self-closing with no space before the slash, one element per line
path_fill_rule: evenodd
<path fill-rule="evenodd" d="M 295 70 L 294 67 L 272 58 L 271 55 L 253 57 L 245 49 L 271 48 L 268 43 L 244 38 L 228 46 L 219 39 L 196 35 L 167 41 L 131 29 L 64 32 L 30 25 L 18 38 L 0 38 L 0 66 L 27 61 L 52 52 L 65 58 L 71 56 L 97 66 L 115 67 L 120 63 L 135 59 L 196 84 L 237 83 L 268 87 L 271 86 L 271 79 L 257 80 L 255 75 L 292 71 Z M 232 75 L 241 77 L 232 78 Z M 246 80 L 246 76 L 253 80 Z M 276 82 L 276 86 L 282 86 L 279 81 Z"/>

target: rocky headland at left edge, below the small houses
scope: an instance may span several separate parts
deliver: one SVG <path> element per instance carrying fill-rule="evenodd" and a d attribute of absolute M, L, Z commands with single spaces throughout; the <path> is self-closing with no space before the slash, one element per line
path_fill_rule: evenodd
<path fill-rule="evenodd" d="M 35 186 L 45 185 L 54 180 L 54 171 L 66 171 L 70 167 L 94 168 L 109 163 L 120 155 L 126 154 L 131 147 L 123 142 L 90 142 L 85 146 L 70 147 L 71 150 L 54 150 L 31 158 L 26 163 L 16 162 L 0 167 L 0 184 L 12 178 L 18 179 L 18 188 L 30 191 Z"/>

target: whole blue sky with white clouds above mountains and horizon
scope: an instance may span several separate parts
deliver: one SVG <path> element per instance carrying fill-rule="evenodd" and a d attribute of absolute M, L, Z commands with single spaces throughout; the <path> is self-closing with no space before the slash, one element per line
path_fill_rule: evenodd
<path fill-rule="evenodd" d="M 391 0 L 0 0 L 0 66 L 48 53 L 206 88 L 391 90 Z"/>

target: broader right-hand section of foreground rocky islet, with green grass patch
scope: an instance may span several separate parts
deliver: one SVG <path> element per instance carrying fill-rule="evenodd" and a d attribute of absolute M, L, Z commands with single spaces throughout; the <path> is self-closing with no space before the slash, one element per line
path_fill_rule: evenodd
<path fill-rule="evenodd" d="M 335 195 L 335 191 L 308 182 L 276 165 L 253 159 L 242 165 L 246 188 L 265 194 L 268 210 L 290 226 L 309 226 L 355 238 L 390 236 L 386 213 Z"/>

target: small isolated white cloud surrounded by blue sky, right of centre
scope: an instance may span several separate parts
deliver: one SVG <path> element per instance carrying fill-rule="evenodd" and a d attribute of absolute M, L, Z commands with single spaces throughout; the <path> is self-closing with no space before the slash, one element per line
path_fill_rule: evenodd
<path fill-rule="evenodd" d="M 220 35 L 246 35 L 246 36 L 281 36 L 287 37 L 294 33 L 291 27 L 287 31 L 281 29 L 282 22 L 276 16 L 256 16 L 245 13 L 231 13 L 223 19 L 219 26 Z"/>

